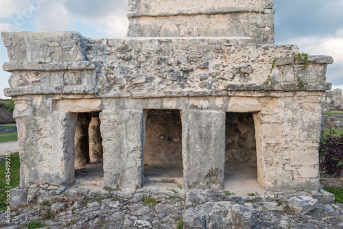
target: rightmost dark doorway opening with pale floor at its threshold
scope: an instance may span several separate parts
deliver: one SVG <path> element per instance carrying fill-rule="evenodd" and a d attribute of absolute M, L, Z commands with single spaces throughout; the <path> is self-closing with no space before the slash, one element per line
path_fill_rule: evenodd
<path fill-rule="evenodd" d="M 224 189 L 263 192 L 257 182 L 255 123 L 251 112 L 226 112 Z"/>

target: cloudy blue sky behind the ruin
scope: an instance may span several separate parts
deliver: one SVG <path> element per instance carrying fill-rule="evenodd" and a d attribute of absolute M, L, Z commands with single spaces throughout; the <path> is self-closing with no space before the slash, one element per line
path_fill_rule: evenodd
<path fill-rule="evenodd" d="M 124 37 L 126 9 L 127 0 L 0 0 L 0 32 L 72 30 L 86 37 Z M 343 0 L 274 0 L 274 10 L 275 45 L 332 56 L 327 82 L 343 88 Z M 3 62 L 8 56 L 0 42 Z M 0 98 L 8 98 L 3 88 L 9 77 L 1 68 Z"/>

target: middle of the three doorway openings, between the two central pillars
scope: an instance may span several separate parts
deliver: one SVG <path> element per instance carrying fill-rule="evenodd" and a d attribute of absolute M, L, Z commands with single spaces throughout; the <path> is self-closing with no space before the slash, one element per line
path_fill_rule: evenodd
<path fill-rule="evenodd" d="M 144 185 L 183 185 L 180 110 L 148 110 L 145 122 Z"/>

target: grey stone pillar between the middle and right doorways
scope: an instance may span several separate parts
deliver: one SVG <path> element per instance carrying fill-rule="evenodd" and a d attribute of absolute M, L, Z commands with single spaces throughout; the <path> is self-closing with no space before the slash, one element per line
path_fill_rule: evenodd
<path fill-rule="evenodd" d="M 223 188 L 225 112 L 182 110 L 182 158 L 185 187 Z"/>

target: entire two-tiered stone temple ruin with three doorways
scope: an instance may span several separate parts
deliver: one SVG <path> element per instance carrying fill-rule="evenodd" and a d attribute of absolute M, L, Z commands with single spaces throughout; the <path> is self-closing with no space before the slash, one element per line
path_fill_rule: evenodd
<path fill-rule="evenodd" d="M 249 168 L 265 191 L 318 191 L 331 57 L 307 66 L 274 45 L 272 0 L 128 6 L 127 38 L 2 34 L 20 189 L 65 189 L 87 168 L 99 189 L 227 189 Z"/>

